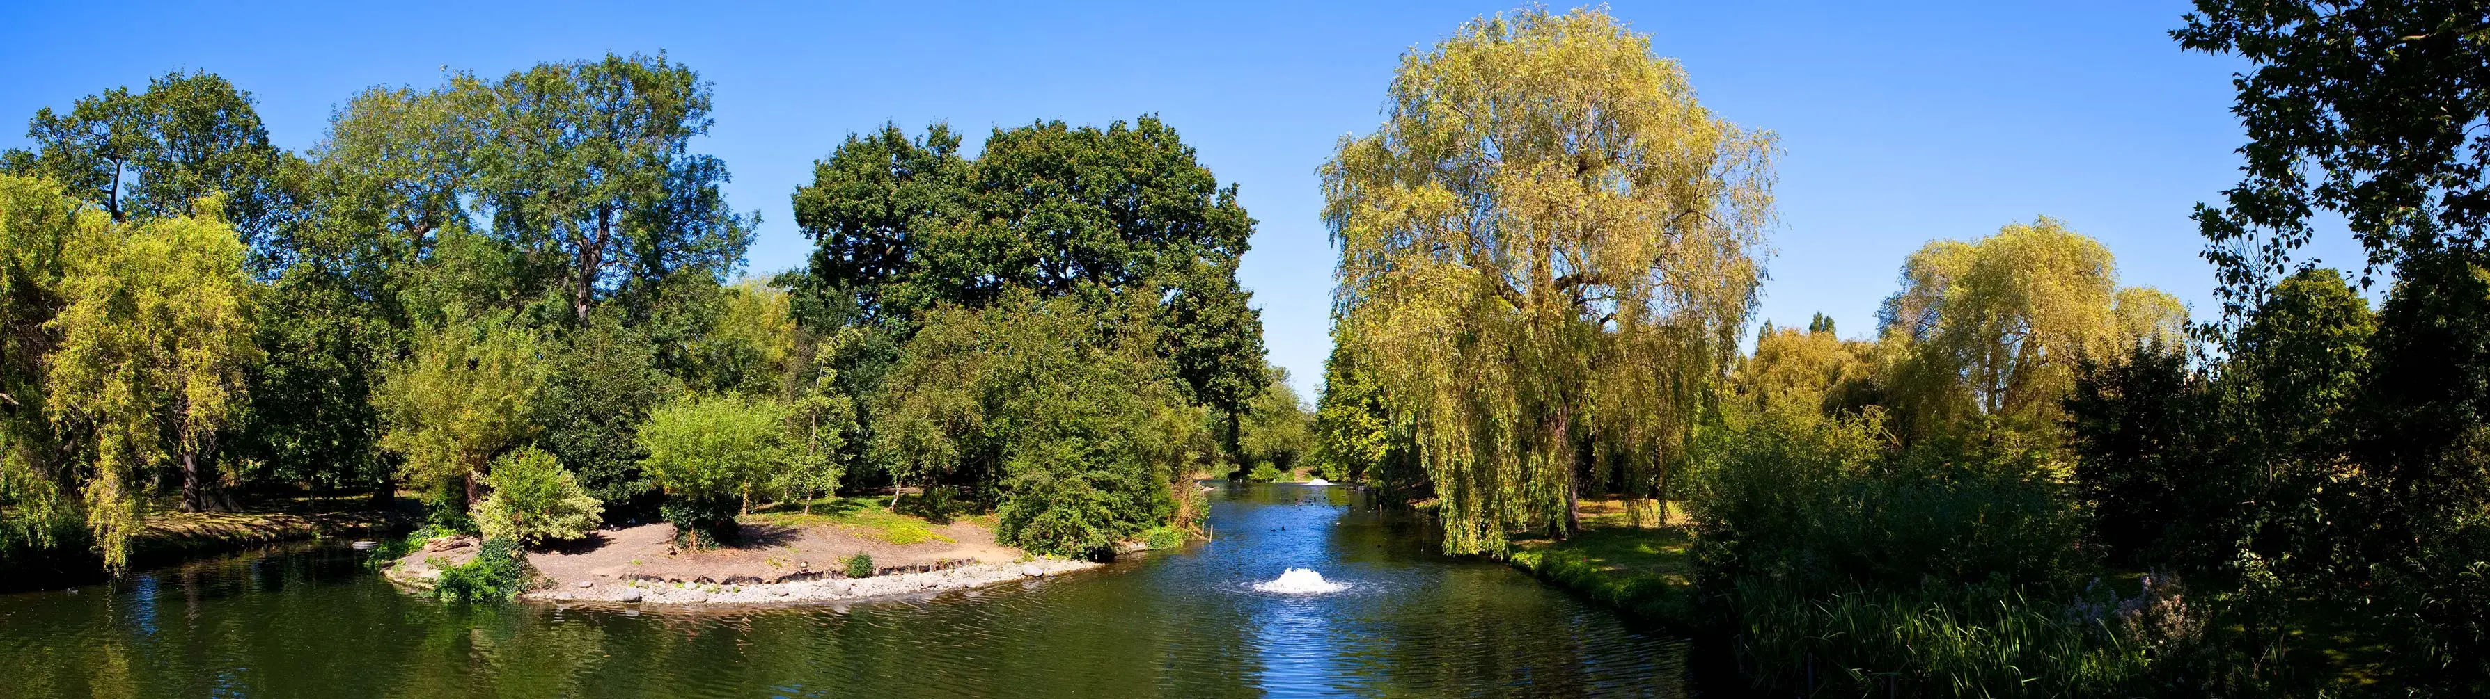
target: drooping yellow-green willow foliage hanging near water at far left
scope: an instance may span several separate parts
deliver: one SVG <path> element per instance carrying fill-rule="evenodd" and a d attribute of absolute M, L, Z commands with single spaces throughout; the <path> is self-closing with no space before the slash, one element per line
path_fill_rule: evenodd
<path fill-rule="evenodd" d="M 197 209 L 222 204 L 209 197 Z M 60 336 L 45 361 L 47 410 L 62 433 L 95 438 L 87 525 L 117 570 L 144 517 L 149 470 L 174 458 L 167 448 L 192 470 L 187 505 L 199 505 L 199 460 L 261 356 L 251 279 L 242 239 L 212 216 L 85 229 L 65 261 L 67 306 L 47 323 Z"/>

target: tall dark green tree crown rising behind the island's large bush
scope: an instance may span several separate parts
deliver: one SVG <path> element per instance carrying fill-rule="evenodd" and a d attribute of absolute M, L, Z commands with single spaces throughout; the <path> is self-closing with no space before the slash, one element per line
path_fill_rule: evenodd
<path fill-rule="evenodd" d="M 1252 219 L 1155 117 L 996 129 L 979 159 L 961 159 L 946 127 L 921 139 L 884 127 L 817 162 L 794 216 L 817 246 L 792 284 L 794 316 L 886 333 L 859 343 L 862 361 L 896 361 L 874 348 L 909 341 L 941 303 L 1135 296 L 1133 306 L 1158 306 L 1153 343 L 1185 396 L 1223 413 L 1230 450 L 1245 403 L 1267 383 L 1260 311 L 1235 284 Z M 881 391 L 879 366 L 842 371 L 849 393 Z"/>

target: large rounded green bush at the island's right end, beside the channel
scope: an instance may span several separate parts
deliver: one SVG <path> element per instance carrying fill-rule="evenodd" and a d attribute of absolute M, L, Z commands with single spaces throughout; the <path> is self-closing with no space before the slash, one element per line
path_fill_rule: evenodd
<path fill-rule="evenodd" d="M 1203 410 L 1150 353 L 1148 311 L 1130 313 L 1103 326 L 1081 299 L 1028 294 L 924 313 L 874 410 L 876 458 L 991 488 L 996 535 L 1036 552 L 1101 555 L 1175 520 Z"/>

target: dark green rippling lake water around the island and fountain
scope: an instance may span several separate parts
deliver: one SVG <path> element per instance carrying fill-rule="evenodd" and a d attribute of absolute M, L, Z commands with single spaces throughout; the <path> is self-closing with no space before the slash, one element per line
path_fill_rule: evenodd
<path fill-rule="evenodd" d="M 819 607 L 443 607 L 341 542 L 0 597 L 0 697 L 1683 697 L 1686 642 L 1434 552 L 1347 488 L 1225 485 L 1218 537 Z M 1310 567 L 1347 587 L 1257 592 Z"/>

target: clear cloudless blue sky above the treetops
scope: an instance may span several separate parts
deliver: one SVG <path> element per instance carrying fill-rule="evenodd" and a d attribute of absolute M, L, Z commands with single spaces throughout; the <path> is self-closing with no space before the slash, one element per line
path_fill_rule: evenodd
<path fill-rule="evenodd" d="M 2236 182 L 2236 60 L 2186 55 L 2186 2 L 1614 2 L 1686 65 L 1703 104 L 1780 134 L 1780 214 L 1760 318 L 1830 313 L 1872 333 L 1905 254 L 2034 214 L 2109 244 L 2126 284 L 2211 313 L 2186 219 Z M 717 90 L 697 147 L 759 209 L 752 271 L 802 264 L 787 197 L 849 132 L 951 122 L 979 142 L 1031 119 L 1155 112 L 1260 221 L 1243 281 L 1275 363 L 1312 400 L 1330 351 L 1332 251 L 1315 169 L 1382 119 L 1399 55 L 1506 2 L 319 2 L 0 7 L 0 147 L 17 119 L 169 70 L 259 100 L 276 144 L 311 147 L 371 85 L 498 77 L 545 60 L 665 50 Z M 1564 5 L 1554 5 L 1564 7 Z M 2348 244 L 2326 259 L 2353 261 Z"/>

